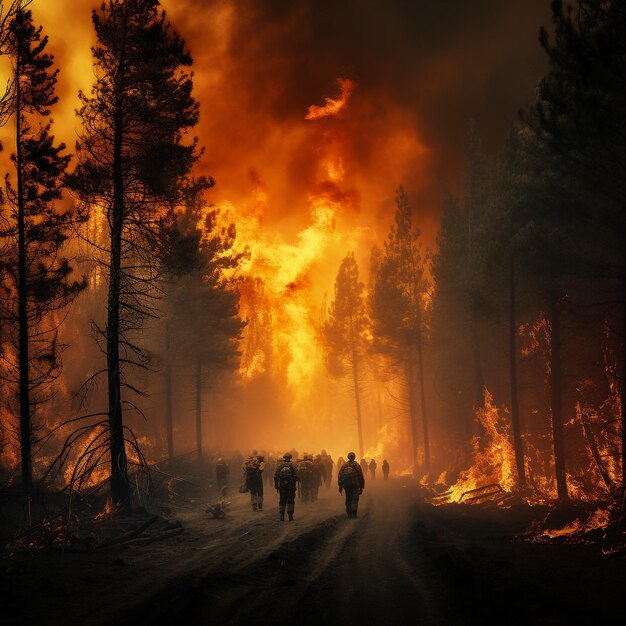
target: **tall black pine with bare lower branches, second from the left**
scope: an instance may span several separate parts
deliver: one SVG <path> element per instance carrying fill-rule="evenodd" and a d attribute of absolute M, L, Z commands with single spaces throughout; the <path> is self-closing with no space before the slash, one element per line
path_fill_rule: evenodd
<path fill-rule="evenodd" d="M 154 292 L 158 263 L 153 250 L 158 220 L 177 204 L 199 157 L 197 143 L 185 143 L 198 121 L 192 97 L 192 64 L 185 44 L 159 8 L 158 0 L 109 0 L 93 13 L 96 82 L 80 94 L 83 135 L 79 165 L 71 183 L 82 201 L 104 212 L 109 248 L 104 342 L 108 382 L 108 441 L 113 500 L 127 505 L 126 443 L 137 447 L 123 420 L 132 407 L 122 389 L 135 390 L 123 370 L 144 366 L 146 353 L 133 338 L 146 318 L 158 315 Z M 138 451 L 138 448 L 137 448 Z"/>

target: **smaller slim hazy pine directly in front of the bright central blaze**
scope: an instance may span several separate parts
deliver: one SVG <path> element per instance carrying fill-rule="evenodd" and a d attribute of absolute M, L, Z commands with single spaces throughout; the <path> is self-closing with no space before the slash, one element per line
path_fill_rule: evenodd
<path fill-rule="evenodd" d="M 324 324 L 327 366 L 331 374 L 346 375 L 350 368 L 356 407 L 359 437 L 359 457 L 363 458 L 363 420 L 361 416 L 360 364 L 366 349 L 365 331 L 368 326 L 364 285 L 359 281 L 359 268 L 354 254 L 341 262 L 335 281 L 335 299 L 330 305 L 329 319 Z"/>

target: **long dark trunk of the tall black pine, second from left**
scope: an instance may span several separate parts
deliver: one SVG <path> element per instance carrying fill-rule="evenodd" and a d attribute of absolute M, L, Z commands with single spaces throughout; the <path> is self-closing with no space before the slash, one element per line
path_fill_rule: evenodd
<path fill-rule="evenodd" d="M 122 171 L 123 119 L 120 98 L 115 103 L 113 139 L 113 206 L 111 252 L 109 261 L 109 294 L 107 300 L 107 374 L 109 394 L 109 437 L 111 448 L 111 497 L 116 506 L 130 506 L 128 461 L 124 444 L 120 376 L 120 287 L 122 268 L 122 230 L 124 224 L 124 181 Z"/>

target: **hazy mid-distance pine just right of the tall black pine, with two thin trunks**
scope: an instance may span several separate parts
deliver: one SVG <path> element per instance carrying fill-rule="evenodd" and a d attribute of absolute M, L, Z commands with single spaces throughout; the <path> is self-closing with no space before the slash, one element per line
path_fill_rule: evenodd
<path fill-rule="evenodd" d="M 164 259 L 170 275 L 166 287 L 166 402 L 171 405 L 171 364 L 178 359 L 194 372 L 196 451 L 201 459 L 203 390 L 207 385 L 216 388 L 223 375 L 239 366 L 239 341 L 245 323 L 239 317 L 233 270 L 245 253 L 234 252 L 235 226 L 221 226 L 219 212 L 206 210 L 201 193 L 192 194 L 186 211 L 176 214 L 168 233 L 171 244 Z M 171 456 L 170 407 L 166 421 Z"/>

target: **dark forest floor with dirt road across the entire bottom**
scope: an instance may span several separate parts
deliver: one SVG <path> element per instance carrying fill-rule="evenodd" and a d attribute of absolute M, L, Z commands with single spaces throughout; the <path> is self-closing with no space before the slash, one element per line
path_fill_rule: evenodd
<path fill-rule="evenodd" d="M 624 556 L 522 541 L 530 507 L 423 502 L 410 482 L 368 484 L 359 518 L 335 488 L 278 521 L 277 497 L 177 511 L 150 545 L 0 562 L 1 622 L 142 624 L 600 624 L 619 608 Z"/>

